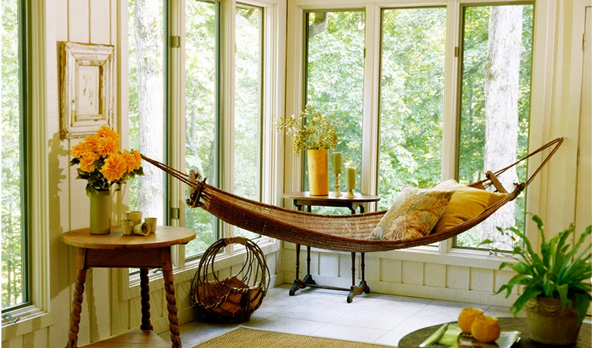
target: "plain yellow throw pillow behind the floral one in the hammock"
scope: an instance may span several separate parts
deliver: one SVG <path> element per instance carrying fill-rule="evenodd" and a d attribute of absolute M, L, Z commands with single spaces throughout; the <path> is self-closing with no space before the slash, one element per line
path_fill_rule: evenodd
<path fill-rule="evenodd" d="M 467 220 L 473 219 L 485 209 L 504 199 L 508 193 L 474 189 L 455 180 L 446 180 L 434 187 L 435 190 L 455 191 L 444 214 L 434 228 L 434 233 L 444 232 Z"/>

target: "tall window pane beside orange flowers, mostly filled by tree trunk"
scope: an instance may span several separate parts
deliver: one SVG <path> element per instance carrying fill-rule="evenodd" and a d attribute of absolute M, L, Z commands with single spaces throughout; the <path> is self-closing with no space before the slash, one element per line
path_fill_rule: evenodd
<path fill-rule="evenodd" d="M 164 150 L 164 17 L 159 1 L 128 2 L 130 148 L 163 161 Z M 144 175 L 130 180 L 130 210 L 164 220 L 164 177 L 144 164 Z"/>

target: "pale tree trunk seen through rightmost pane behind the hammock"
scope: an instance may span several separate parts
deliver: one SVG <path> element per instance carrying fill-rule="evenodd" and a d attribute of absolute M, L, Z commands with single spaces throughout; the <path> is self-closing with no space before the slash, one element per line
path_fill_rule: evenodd
<path fill-rule="evenodd" d="M 523 6 L 492 6 L 489 18 L 488 59 L 485 61 L 485 170 L 502 168 L 516 161 L 518 143 L 518 85 L 522 47 Z M 499 177 L 506 190 L 518 181 L 515 167 Z M 483 221 L 483 239 L 494 248 L 511 249 L 497 226 L 515 225 L 515 203 L 501 207 Z"/>

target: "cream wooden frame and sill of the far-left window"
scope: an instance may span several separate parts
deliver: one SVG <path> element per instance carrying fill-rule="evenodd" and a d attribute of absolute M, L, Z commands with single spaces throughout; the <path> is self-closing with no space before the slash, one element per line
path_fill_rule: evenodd
<path fill-rule="evenodd" d="M 57 66 L 56 57 L 47 56 L 47 8 L 39 1 L 22 1 L 25 3 L 26 38 L 26 94 L 36 95 L 26 101 L 26 182 L 29 204 L 28 214 L 29 238 L 29 303 L 19 308 L 10 308 L 3 312 L 10 313 L 18 322 L 2 319 L 2 338 L 9 340 L 29 332 L 31 319 L 36 319 L 36 329 L 56 324 L 56 317 L 49 313 L 52 299 L 49 279 L 49 265 L 57 262 L 59 255 L 49 253 L 52 235 L 49 232 L 49 152 L 46 136 L 49 134 L 48 120 L 57 119 L 59 111 L 53 108 L 54 103 L 48 93 L 46 81 L 54 76 L 46 70 L 46 66 Z M 53 41 L 52 41 L 53 42 Z M 54 45 L 52 43 L 52 45 Z M 57 97 L 57 95 L 55 95 Z M 53 108 L 53 109 L 52 109 Z M 55 109 L 55 110 L 54 110 Z M 36 122 L 30 122 L 35 118 Z M 61 235 L 61 232 L 59 232 Z M 54 236 L 55 238 L 56 236 Z M 55 253 L 54 253 L 55 254 Z"/>

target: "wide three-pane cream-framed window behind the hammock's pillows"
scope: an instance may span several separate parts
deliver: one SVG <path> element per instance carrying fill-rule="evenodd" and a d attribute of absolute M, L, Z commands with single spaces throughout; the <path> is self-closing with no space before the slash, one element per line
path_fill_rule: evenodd
<path fill-rule="evenodd" d="M 338 150 L 344 162 L 361 166 L 358 187 L 380 196 L 376 209 L 387 209 L 405 184 L 430 188 L 449 178 L 468 184 L 528 152 L 533 1 L 444 2 L 446 7 L 359 3 L 366 11 L 331 3 L 321 11 L 295 0 L 288 8 L 288 21 L 304 19 L 303 30 L 288 35 L 288 57 L 302 57 L 286 75 L 295 89 L 287 89 L 288 110 L 313 104 L 338 116 Z M 302 168 L 295 180 L 304 182 L 286 187 L 306 189 L 306 159 L 297 163 L 287 152 L 286 158 L 286 168 Z M 524 181 L 526 172 L 523 164 L 502 176 L 506 189 Z M 483 239 L 499 239 L 495 227 L 522 228 L 525 196 L 453 243 L 443 242 L 439 252 L 451 246 L 486 250 Z"/>

